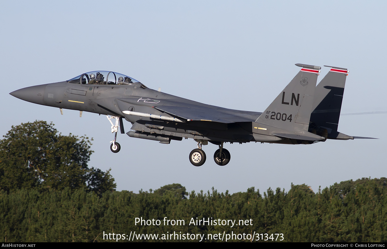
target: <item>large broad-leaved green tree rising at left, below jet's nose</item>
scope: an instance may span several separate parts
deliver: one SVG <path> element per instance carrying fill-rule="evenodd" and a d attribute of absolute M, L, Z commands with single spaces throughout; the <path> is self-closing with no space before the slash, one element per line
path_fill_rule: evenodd
<path fill-rule="evenodd" d="M 87 168 L 88 137 L 63 136 L 45 121 L 17 126 L 0 141 L 0 189 L 62 190 L 87 187 L 101 194 L 115 188 L 110 170 Z"/>

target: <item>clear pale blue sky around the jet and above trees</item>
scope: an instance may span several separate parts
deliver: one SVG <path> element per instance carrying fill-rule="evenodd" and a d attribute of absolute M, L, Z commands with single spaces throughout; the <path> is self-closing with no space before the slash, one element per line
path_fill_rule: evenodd
<path fill-rule="evenodd" d="M 62 134 L 94 137 L 90 167 L 112 168 L 117 190 L 180 183 L 188 191 L 261 192 L 386 176 L 387 114 L 342 116 L 339 131 L 379 140 L 312 145 L 226 144 L 231 161 L 194 167 L 192 139 L 159 144 L 118 135 L 111 153 L 103 115 L 40 106 L 16 89 L 92 70 L 131 76 L 149 88 L 203 103 L 262 112 L 295 76 L 295 63 L 349 69 L 342 113 L 387 111 L 386 2 L 2 1 L 0 134 L 11 125 L 53 122 Z M 319 80 L 329 69 L 323 67 Z M 318 80 L 318 81 L 319 81 Z M 130 129 L 125 121 L 125 130 Z"/>

